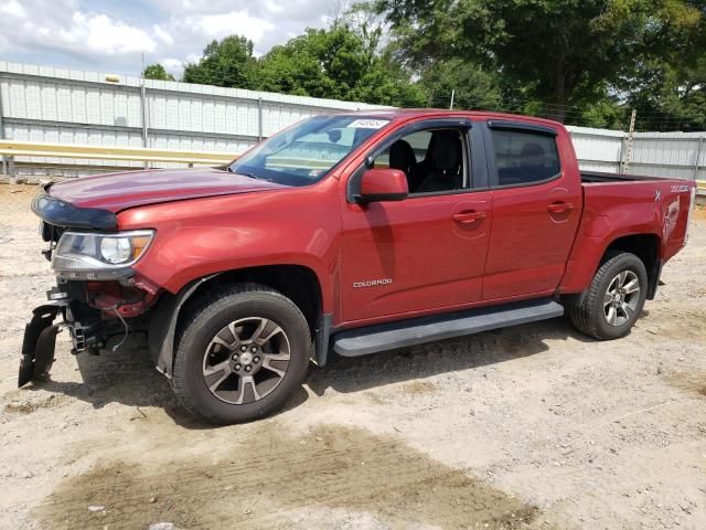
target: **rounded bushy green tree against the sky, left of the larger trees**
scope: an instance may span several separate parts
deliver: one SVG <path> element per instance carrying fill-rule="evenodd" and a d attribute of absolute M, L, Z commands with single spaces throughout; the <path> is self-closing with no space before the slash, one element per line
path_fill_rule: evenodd
<path fill-rule="evenodd" d="M 182 81 L 202 85 L 254 88 L 257 61 L 253 56 L 253 41 L 231 35 L 212 41 L 197 63 L 186 64 Z"/>

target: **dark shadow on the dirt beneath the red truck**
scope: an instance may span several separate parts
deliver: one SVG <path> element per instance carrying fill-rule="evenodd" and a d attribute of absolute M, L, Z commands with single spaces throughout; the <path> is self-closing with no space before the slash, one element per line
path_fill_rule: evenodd
<path fill-rule="evenodd" d="M 327 389 L 360 392 L 533 356 L 548 350 L 547 339 L 569 338 L 590 340 L 557 318 L 359 358 L 339 357 L 332 352 L 324 368 L 311 369 L 306 384 L 317 395 L 323 395 Z M 130 407 L 162 407 L 181 426 L 211 427 L 180 407 L 167 378 L 157 372 L 147 351 L 126 349 L 99 357 L 82 354 L 76 359 L 83 383 L 50 380 L 29 389 L 65 394 L 90 403 L 95 409 L 113 402 Z M 307 398 L 307 391 L 300 388 L 281 412 L 301 405 Z"/>

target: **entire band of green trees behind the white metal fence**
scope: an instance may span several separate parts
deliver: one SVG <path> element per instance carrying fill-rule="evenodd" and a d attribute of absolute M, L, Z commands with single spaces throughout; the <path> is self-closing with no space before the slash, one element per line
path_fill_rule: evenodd
<path fill-rule="evenodd" d="M 641 128 L 703 129 L 706 0 L 371 0 L 259 59 L 213 41 L 182 81 L 400 107 L 453 91 L 456 108 L 611 128 L 637 108 Z"/>

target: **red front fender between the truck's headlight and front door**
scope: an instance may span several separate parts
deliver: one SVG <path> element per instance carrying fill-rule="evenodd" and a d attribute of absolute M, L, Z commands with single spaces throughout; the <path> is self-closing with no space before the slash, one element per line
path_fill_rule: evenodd
<path fill-rule="evenodd" d="M 324 310 L 333 311 L 339 279 L 341 213 L 331 201 L 339 181 L 267 193 L 213 197 L 131 209 L 120 230 L 150 227 L 157 236 L 133 268 L 170 293 L 224 271 L 301 265 L 314 272 Z"/>

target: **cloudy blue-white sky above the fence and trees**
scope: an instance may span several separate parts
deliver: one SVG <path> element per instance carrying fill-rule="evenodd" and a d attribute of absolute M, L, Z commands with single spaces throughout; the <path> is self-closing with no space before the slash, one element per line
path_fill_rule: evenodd
<path fill-rule="evenodd" d="M 343 0 L 0 0 L 0 60 L 139 75 L 141 55 L 175 75 L 214 39 L 261 55 L 322 28 Z"/>

